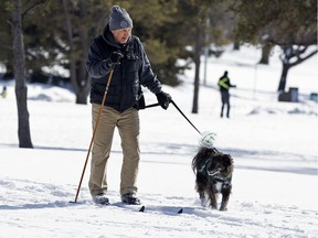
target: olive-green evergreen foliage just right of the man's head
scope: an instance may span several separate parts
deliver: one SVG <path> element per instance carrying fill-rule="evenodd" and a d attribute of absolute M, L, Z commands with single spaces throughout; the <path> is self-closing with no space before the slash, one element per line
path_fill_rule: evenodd
<path fill-rule="evenodd" d="M 178 44 L 180 41 L 176 37 L 178 0 L 131 0 L 129 4 L 123 1 L 123 7 L 132 18 L 132 34 L 142 41 L 159 80 L 171 86 L 178 85 L 178 74 L 182 74 L 184 69 L 177 65 L 183 53 L 182 45 Z"/>

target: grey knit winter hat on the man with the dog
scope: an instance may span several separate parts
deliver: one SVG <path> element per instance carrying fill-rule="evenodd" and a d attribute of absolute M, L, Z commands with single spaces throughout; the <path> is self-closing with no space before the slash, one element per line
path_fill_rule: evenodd
<path fill-rule="evenodd" d="M 130 19 L 128 12 L 124 8 L 120 8 L 119 6 L 113 6 L 110 11 L 112 11 L 109 15 L 110 31 L 132 28 L 132 20 Z"/>

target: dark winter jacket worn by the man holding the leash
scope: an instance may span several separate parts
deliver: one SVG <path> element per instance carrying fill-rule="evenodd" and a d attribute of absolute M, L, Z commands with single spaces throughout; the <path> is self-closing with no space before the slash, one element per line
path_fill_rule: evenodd
<path fill-rule="evenodd" d="M 124 57 L 120 65 L 114 68 L 105 106 L 119 112 L 130 107 L 139 108 L 138 101 L 140 104 L 144 99 L 141 85 L 158 94 L 161 91 L 161 84 L 151 69 L 140 40 L 131 35 L 125 45 L 119 45 L 115 42 L 109 25 L 93 40 L 88 52 L 86 67 L 92 77 L 91 102 L 102 104 L 112 69 L 106 61 L 115 51 L 119 51 Z"/>

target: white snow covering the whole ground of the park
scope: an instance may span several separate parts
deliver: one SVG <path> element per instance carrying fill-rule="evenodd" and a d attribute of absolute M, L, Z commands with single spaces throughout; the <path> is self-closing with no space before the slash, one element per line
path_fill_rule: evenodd
<path fill-rule="evenodd" d="M 318 237 L 318 111 L 309 100 L 318 91 L 318 57 L 289 72 L 287 89 L 298 87 L 299 102 L 278 102 L 278 53 L 267 66 L 256 65 L 261 51 L 246 46 L 209 58 L 198 115 L 191 113 L 193 69 L 181 86 L 165 86 L 193 125 L 215 132 L 216 148 L 234 159 L 226 212 L 201 207 L 191 170 L 200 134 L 172 105 L 140 111 L 138 195 L 145 213 L 119 203 L 117 133 L 108 164 L 113 205 L 92 203 L 89 163 L 78 203 L 70 203 L 91 142 L 91 105 L 75 105 L 67 89 L 28 85 L 34 149 L 19 149 L 14 83 L 0 80 L 8 87 L 0 98 L 0 237 Z M 216 82 L 225 69 L 237 85 L 230 119 L 219 117 Z M 156 102 L 147 90 L 146 100 Z"/>

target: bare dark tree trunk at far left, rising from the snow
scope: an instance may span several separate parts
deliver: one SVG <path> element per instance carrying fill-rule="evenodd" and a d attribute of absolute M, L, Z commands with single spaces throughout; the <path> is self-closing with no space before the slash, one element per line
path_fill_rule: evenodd
<path fill-rule="evenodd" d="M 21 20 L 21 0 L 12 1 L 12 35 L 13 35 L 13 61 L 15 78 L 15 98 L 18 106 L 18 137 L 20 148 L 33 148 L 30 134 L 29 111 L 28 111 L 28 87 L 25 84 L 24 69 L 24 44 Z"/>

